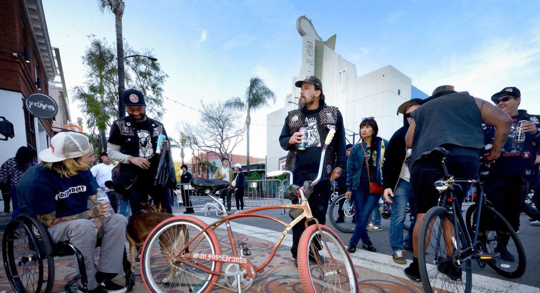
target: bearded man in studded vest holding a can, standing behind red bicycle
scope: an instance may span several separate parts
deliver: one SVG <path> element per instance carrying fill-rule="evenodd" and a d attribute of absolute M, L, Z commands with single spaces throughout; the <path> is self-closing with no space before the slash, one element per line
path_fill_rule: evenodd
<path fill-rule="evenodd" d="M 336 131 L 332 142 L 326 149 L 322 178 L 313 187 L 313 193 L 308 199 L 313 216 L 319 223 L 324 224 L 331 194 L 330 182 L 341 176 L 342 169 L 347 163 L 345 127 L 343 127 L 343 118 L 338 108 L 326 105 L 325 95 L 322 93 L 322 83 L 318 78 L 308 76 L 304 80 L 296 81 L 294 85 L 301 88 L 299 108 L 287 113 L 279 143 L 281 148 L 288 151 L 286 169 L 293 172 L 296 185 L 303 185 L 304 181 L 316 178 L 319 173 L 319 161 L 325 138 L 330 130 Z M 302 134 L 300 128 L 305 128 L 306 133 Z M 302 140 L 305 140 L 305 149 L 298 147 Z M 298 203 L 298 199 L 294 199 L 292 202 Z M 292 229 L 291 253 L 297 266 L 296 252 L 300 236 L 306 229 L 304 223 L 301 221 Z M 311 260 L 314 260 L 314 257 L 309 256 Z"/>

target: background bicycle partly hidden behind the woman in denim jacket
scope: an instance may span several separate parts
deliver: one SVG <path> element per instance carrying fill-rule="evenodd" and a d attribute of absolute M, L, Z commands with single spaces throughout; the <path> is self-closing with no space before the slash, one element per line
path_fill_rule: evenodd
<path fill-rule="evenodd" d="M 382 198 L 382 197 L 381 197 Z M 383 200 L 383 199 L 382 199 Z M 330 223 L 332 225 L 342 231 L 343 233 L 353 233 L 354 227 L 356 226 L 356 207 L 354 206 L 354 202 L 351 201 L 350 209 L 343 210 L 343 219 L 340 219 L 340 209 L 343 207 L 343 202 L 345 201 L 345 194 L 341 194 L 339 196 L 336 196 L 335 199 L 330 203 L 330 206 L 328 207 L 328 219 L 330 220 Z M 382 206 L 382 205 L 381 205 Z M 410 214 L 410 207 L 407 205 L 406 213 L 408 216 L 405 218 L 405 222 L 403 224 L 403 229 L 409 230 L 410 229 L 410 223 L 413 221 L 413 216 Z M 373 213 L 369 214 L 369 220 L 368 223 L 371 222 L 373 217 Z M 339 221 L 343 220 L 343 221 Z"/>

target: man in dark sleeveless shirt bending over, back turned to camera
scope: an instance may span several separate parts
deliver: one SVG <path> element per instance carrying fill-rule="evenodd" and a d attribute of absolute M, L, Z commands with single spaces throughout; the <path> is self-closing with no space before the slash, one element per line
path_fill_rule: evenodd
<path fill-rule="evenodd" d="M 407 147 L 411 148 L 410 183 L 413 186 L 416 203 L 416 224 L 413 230 L 413 247 L 418 247 L 418 232 L 426 212 L 437 206 L 439 194 L 433 182 L 443 177 L 441 162 L 423 159 L 422 153 L 436 147 L 449 151 L 446 156 L 448 173 L 455 178 L 476 178 L 480 167 L 481 149 L 484 147 L 482 125 L 494 126 L 494 141 L 489 153 L 482 160 L 492 162 L 501 154 L 508 138 L 512 119 L 500 108 L 483 99 L 475 98 L 468 92 L 456 92 L 454 86 L 438 86 L 431 97 L 424 100 L 421 107 L 412 114 L 413 120 L 405 135 Z M 459 204 L 463 202 L 470 184 L 462 185 L 463 193 L 455 194 Z M 487 193 L 487 192 L 486 192 Z M 418 226 L 418 227 L 416 227 Z M 445 237 L 452 245 L 451 237 Z M 413 262 L 404 269 L 404 274 L 413 281 L 420 282 L 418 251 L 414 251 Z M 441 265 L 452 278 L 461 278 L 459 264 Z"/>

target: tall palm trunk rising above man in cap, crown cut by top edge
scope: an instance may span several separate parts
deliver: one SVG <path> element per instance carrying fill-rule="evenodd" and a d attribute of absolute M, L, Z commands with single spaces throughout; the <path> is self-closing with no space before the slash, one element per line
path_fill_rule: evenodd
<path fill-rule="evenodd" d="M 124 118 L 124 39 L 122 37 L 122 16 L 124 15 L 124 1 L 98 0 L 99 10 L 109 8 L 114 13 L 114 26 L 116 28 L 116 51 L 118 58 L 118 118 Z"/>

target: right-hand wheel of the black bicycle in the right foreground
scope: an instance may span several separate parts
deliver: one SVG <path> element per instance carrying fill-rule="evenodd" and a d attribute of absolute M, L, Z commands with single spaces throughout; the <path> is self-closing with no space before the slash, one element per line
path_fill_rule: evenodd
<path fill-rule="evenodd" d="M 510 223 L 489 206 L 483 206 L 480 212 L 478 241 L 483 243 L 487 253 L 499 253 L 500 257 L 488 260 L 487 264 L 498 274 L 507 278 L 519 278 L 525 273 L 527 259 L 525 249 Z M 469 207 L 465 217 L 469 233 L 474 232 L 476 203 Z M 471 234 L 472 235 L 472 234 Z"/>

